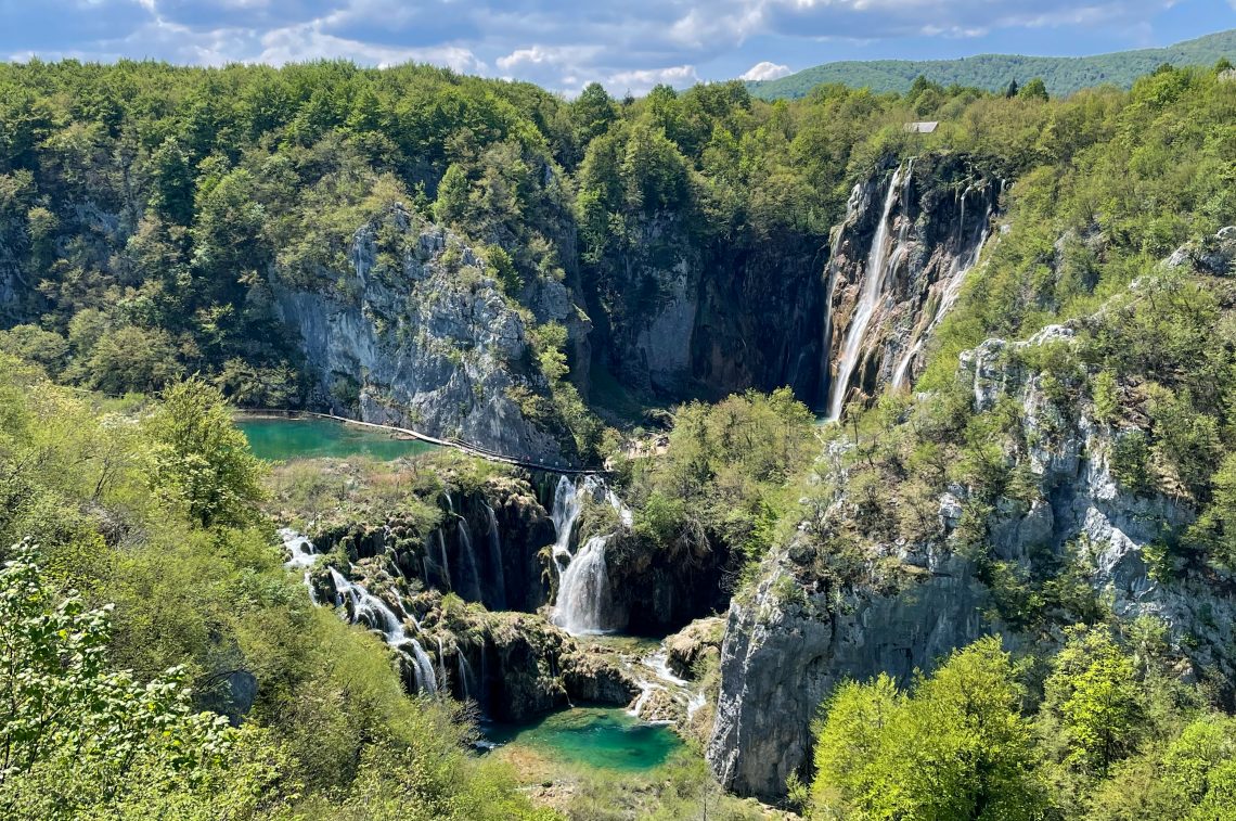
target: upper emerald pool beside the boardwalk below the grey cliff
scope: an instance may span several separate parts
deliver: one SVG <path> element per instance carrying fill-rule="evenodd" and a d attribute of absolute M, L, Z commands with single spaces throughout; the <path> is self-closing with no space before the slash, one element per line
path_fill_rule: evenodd
<path fill-rule="evenodd" d="M 248 438 L 253 455 L 267 461 L 370 456 L 391 461 L 434 450 L 415 439 L 392 439 L 377 429 L 347 425 L 332 419 L 241 418 L 236 427 Z"/>

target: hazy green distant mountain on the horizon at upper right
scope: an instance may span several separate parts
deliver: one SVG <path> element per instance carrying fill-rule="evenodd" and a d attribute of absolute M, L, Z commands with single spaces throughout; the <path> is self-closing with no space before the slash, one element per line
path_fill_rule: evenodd
<path fill-rule="evenodd" d="M 824 63 L 776 80 L 748 83 L 755 96 L 765 100 L 805 96 L 821 83 L 842 83 L 875 91 L 905 91 L 920 74 L 942 85 L 973 85 L 996 90 L 1010 80 L 1023 84 L 1041 77 L 1053 95 L 1072 94 L 1083 88 L 1111 83 L 1132 85 L 1163 63 L 1172 66 L 1213 66 L 1221 57 L 1236 63 L 1236 28 L 1208 35 L 1166 48 L 1096 54 L 1094 57 L 1023 57 L 1018 54 L 979 54 L 960 59 L 874 59 Z"/>

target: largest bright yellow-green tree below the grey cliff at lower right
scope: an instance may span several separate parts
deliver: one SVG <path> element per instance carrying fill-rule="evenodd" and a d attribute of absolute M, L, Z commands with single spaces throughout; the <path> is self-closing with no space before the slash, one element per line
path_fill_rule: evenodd
<path fill-rule="evenodd" d="M 999 638 L 910 694 L 847 683 L 821 707 L 810 817 L 1038 819 L 1047 807 L 1023 691 Z"/>

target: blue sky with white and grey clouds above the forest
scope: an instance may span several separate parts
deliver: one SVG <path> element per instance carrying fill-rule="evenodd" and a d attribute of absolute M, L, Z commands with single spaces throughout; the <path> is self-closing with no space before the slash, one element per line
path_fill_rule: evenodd
<path fill-rule="evenodd" d="M 836 59 L 1091 54 L 1232 27 L 1236 0 L 0 0 L 0 57 L 419 61 L 640 94 Z"/>

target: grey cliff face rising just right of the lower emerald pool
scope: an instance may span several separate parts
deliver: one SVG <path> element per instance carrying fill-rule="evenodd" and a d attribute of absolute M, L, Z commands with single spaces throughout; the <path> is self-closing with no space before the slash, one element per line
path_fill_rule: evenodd
<path fill-rule="evenodd" d="M 896 596 L 861 587 L 805 592 L 774 564 L 753 598 L 730 606 L 707 755 L 740 795 L 776 800 L 808 760 L 810 726 L 844 679 L 916 668 L 988 629 L 983 586 L 962 559 L 932 556 L 929 577 Z M 839 603 L 833 597 L 839 597 Z"/>

